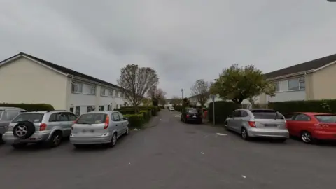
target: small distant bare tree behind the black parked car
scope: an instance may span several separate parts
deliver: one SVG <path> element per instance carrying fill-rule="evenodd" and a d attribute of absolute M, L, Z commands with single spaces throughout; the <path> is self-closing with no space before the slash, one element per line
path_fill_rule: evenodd
<path fill-rule="evenodd" d="M 201 106 L 204 106 L 209 99 L 209 88 L 210 83 L 203 79 L 196 80 L 193 87 L 191 87 L 191 94 L 195 96 L 197 102 L 200 102 Z"/>

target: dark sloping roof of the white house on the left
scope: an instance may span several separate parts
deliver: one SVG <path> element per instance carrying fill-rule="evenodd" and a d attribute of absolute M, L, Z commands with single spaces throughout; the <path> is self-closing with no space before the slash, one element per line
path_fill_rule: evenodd
<path fill-rule="evenodd" d="M 21 55 L 26 56 L 26 57 L 29 57 L 29 58 L 31 58 L 31 59 L 34 59 L 34 60 L 36 60 L 37 62 L 41 62 L 42 64 L 45 64 L 46 66 L 50 66 L 52 69 L 56 69 L 57 71 L 60 71 L 60 72 L 62 72 L 62 73 L 66 73 L 66 74 L 69 74 L 69 75 L 72 75 L 72 76 L 77 76 L 77 77 L 80 77 L 80 78 L 85 78 L 85 79 L 87 79 L 87 80 L 92 80 L 92 81 L 95 81 L 95 82 L 97 82 L 97 83 L 102 83 L 102 84 L 104 84 L 104 85 L 111 85 L 112 87 L 116 87 L 116 88 L 120 88 L 120 89 L 122 89 L 122 87 L 119 87 L 118 85 L 114 85 L 114 84 L 109 83 L 109 82 L 106 82 L 106 81 L 104 81 L 104 80 L 100 80 L 100 79 L 98 79 L 98 78 L 94 78 L 94 77 L 92 77 L 92 76 L 88 76 L 88 75 L 86 75 L 86 74 L 84 74 L 84 73 L 80 73 L 80 72 L 78 72 L 78 71 L 74 71 L 74 70 L 72 70 L 72 69 L 68 69 L 68 68 L 66 68 L 66 67 L 64 67 L 64 66 L 59 66 L 59 65 L 57 65 L 57 64 L 54 64 L 54 63 L 45 61 L 44 59 L 40 59 L 40 58 L 38 58 L 38 57 L 34 57 L 34 56 L 31 56 L 31 55 L 28 55 L 28 54 L 26 54 L 26 53 L 24 53 L 24 52 L 20 52 L 18 55 L 14 55 L 13 57 L 9 57 L 8 59 L 5 59 L 5 60 L 1 61 L 0 64 L 2 64 L 3 62 L 6 62 L 6 61 L 9 60 L 9 59 L 12 59 L 12 58 L 14 58 L 14 57 L 18 57 L 18 56 L 21 56 Z"/>

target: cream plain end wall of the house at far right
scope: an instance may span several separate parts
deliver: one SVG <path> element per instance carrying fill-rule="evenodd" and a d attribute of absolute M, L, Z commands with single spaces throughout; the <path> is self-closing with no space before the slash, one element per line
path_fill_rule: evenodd
<path fill-rule="evenodd" d="M 314 72 L 311 77 L 314 99 L 336 99 L 336 64 Z"/>

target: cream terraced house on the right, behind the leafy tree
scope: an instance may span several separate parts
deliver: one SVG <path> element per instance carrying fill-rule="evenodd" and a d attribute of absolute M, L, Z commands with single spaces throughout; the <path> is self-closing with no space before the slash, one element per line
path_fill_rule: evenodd
<path fill-rule="evenodd" d="M 275 97 L 265 94 L 257 102 L 336 99 L 336 54 L 265 74 L 276 85 Z"/>

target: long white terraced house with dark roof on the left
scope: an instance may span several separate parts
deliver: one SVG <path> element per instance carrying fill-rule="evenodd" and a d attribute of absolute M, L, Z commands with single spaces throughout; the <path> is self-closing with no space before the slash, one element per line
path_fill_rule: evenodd
<path fill-rule="evenodd" d="M 80 114 L 127 103 L 122 88 L 20 52 L 0 62 L 0 103 L 45 103 Z"/>

